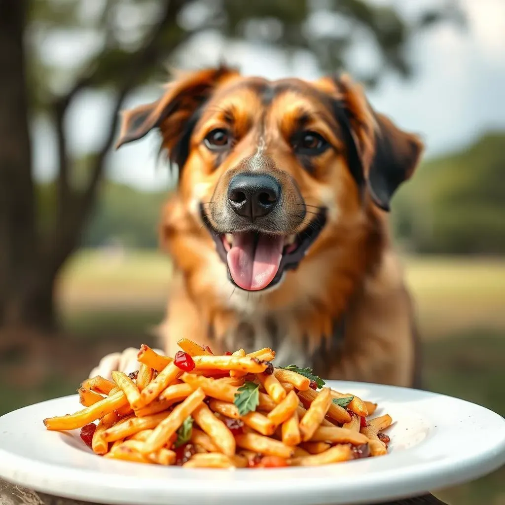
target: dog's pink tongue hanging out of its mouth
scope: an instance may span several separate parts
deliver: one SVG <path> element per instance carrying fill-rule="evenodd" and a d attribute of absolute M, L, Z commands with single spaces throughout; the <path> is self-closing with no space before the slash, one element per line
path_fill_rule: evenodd
<path fill-rule="evenodd" d="M 235 284 L 247 291 L 267 287 L 279 270 L 283 244 L 282 235 L 262 234 L 255 247 L 254 235 L 234 233 L 227 259 Z"/>

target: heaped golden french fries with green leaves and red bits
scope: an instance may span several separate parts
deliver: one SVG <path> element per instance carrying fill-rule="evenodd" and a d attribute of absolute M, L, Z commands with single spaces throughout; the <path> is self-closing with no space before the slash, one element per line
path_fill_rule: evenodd
<path fill-rule="evenodd" d="M 375 403 L 313 389 L 290 367 L 273 368 L 272 349 L 214 356 L 188 339 L 178 345 L 191 370 L 142 345 L 138 373 L 85 380 L 78 390 L 84 409 L 45 419 L 45 427 L 98 421 L 90 444 L 97 455 L 186 468 L 316 466 L 387 452 L 381 432 L 389 415 L 365 421 Z"/>

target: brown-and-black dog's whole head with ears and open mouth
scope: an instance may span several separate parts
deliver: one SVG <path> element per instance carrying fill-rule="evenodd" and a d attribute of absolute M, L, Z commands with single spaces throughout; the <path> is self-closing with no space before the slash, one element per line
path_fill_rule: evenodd
<path fill-rule="evenodd" d="M 347 77 L 191 72 L 126 111 L 118 145 L 153 128 L 179 167 L 184 213 L 201 224 L 193 232 L 212 236 L 229 280 L 246 291 L 278 285 L 367 209 L 389 210 L 422 150 Z"/>

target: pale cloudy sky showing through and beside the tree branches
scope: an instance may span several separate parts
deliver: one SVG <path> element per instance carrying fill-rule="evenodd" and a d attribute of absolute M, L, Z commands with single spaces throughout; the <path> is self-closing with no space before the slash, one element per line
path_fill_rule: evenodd
<path fill-rule="evenodd" d="M 371 1 L 392 4 L 407 19 L 430 5 L 440 4 L 439 0 Z M 426 30 L 410 46 L 414 78 L 405 81 L 391 74 L 368 92 L 376 110 L 390 116 L 401 128 L 421 134 L 427 158 L 460 149 L 489 129 L 505 130 L 505 0 L 461 0 L 461 6 L 467 14 L 467 30 L 453 25 Z M 313 21 L 319 29 L 334 28 L 328 20 Z M 66 63 L 75 59 L 76 49 L 91 48 L 94 41 L 58 36 L 44 44 L 51 58 Z M 219 37 L 212 35 L 195 41 L 186 58 L 188 62 L 214 63 L 223 54 L 245 75 L 270 79 L 316 79 L 321 75 L 311 58 L 300 56 L 288 63 L 282 53 L 269 48 L 246 44 L 224 47 Z M 350 57 L 358 69 L 377 64 L 374 48 L 366 40 L 353 49 Z M 154 90 L 137 93 L 129 98 L 127 107 L 156 98 Z M 70 148 L 81 154 L 103 139 L 110 100 L 103 93 L 83 93 L 76 102 L 69 111 L 66 128 Z M 51 130 L 38 121 L 33 125 L 33 139 L 35 174 L 40 180 L 51 179 L 56 165 Z M 109 156 L 108 176 L 143 190 L 166 188 L 169 173 L 157 161 L 158 146 L 157 135 L 151 133 L 115 151 Z"/>

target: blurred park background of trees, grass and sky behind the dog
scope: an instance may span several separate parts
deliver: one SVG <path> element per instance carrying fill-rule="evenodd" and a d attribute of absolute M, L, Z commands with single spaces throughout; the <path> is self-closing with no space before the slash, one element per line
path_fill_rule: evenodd
<path fill-rule="evenodd" d="M 422 134 L 391 220 L 425 386 L 504 415 L 503 0 L 0 0 L 0 414 L 156 342 L 174 181 L 156 134 L 113 151 L 117 113 L 158 97 L 169 68 L 219 61 L 268 78 L 345 70 Z M 503 505 L 504 478 L 440 496 Z"/>

